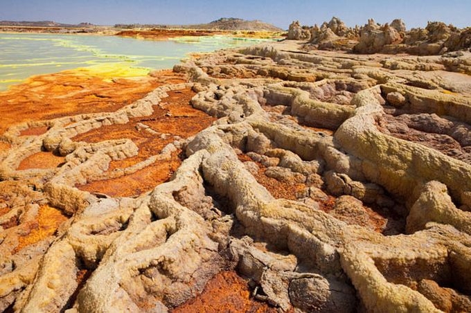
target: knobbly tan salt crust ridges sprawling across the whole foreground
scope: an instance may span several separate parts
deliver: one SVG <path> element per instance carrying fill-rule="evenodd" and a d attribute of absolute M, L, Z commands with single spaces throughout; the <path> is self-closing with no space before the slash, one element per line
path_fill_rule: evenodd
<path fill-rule="evenodd" d="M 471 53 L 302 46 L 200 56 L 174 68 L 188 83 L 118 111 L 10 127 L 0 154 L 1 310 L 166 312 L 236 269 L 280 312 L 470 312 Z M 137 153 L 128 138 L 71 139 L 148 116 L 166 92 L 188 87 L 193 107 L 218 119 L 131 168 L 108 170 Z M 42 135 L 19 136 L 44 126 Z M 129 175 L 177 148 L 180 168 L 139 197 L 77 187 Z M 64 164 L 17 170 L 42 150 Z M 260 166 L 305 188 L 295 200 L 278 198 L 256 179 Z M 321 206 L 328 197 L 337 197 L 331 209 Z M 43 205 L 69 220 L 16 251 L 21 225 Z M 6 226 L 12 217 L 19 223 Z M 81 271 L 91 273 L 83 283 Z"/>

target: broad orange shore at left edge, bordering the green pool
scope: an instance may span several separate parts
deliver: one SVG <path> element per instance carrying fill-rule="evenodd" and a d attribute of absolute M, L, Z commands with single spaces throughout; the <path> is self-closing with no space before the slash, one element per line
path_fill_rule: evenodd
<path fill-rule="evenodd" d="M 88 71 L 62 71 L 37 75 L 8 91 L 0 92 L 0 134 L 17 123 L 73 114 L 116 111 L 143 98 L 167 80 L 181 80 L 172 71 L 159 71 L 141 78 L 105 79 Z M 44 129 L 26 129 L 37 134 Z"/>

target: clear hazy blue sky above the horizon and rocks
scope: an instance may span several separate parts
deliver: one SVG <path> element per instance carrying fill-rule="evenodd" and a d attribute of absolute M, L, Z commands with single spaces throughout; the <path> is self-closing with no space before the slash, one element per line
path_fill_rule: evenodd
<path fill-rule="evenodd" d="M 336 16 L 348 26 L 363 25 L 369 17 L 380 23 L 401 17 L 407 28 L 425 27 L 427 21 L 471 26 L 470 0 L 0 0 L 0 5 L 0 20 L 70 24 L 198 24 L 240 17 L 287 28 L 294 19 L 312 26 Z"/>

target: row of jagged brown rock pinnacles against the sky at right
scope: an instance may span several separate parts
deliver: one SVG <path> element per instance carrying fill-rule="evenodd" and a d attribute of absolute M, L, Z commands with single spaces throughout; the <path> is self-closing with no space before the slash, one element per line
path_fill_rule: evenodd
<path fill-rule="evenodd" d="M 407 30 L 402 19 L 377 24 L 368 19 L 364 26 L 349 28 L 341 19 L 332 17 L 321 26 L 290 25 L 287 39 L 304 40 L 306 48 L 344 50 L 354 53 L 408 53 L 410 55 L 444 55 L 459 57 L 461 50 L 471 48 L 471 28 L 456 28 L 439 21 L 429 21 L 425 28 Z"/>

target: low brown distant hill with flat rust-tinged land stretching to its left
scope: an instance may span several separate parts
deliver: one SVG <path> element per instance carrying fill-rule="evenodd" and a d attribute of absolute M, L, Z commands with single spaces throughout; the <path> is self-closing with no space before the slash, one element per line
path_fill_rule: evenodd
<path fill-rule="evenodd" d="M 208 24 L 193 25 L 161 25 L 161 24 L 116 24 L 116 28 L 184 28 L 184 29 L 204 29 L 204 30 L 266 30 L 279 32 L 283 31 L 272 24 L 263 21 L 246 21 L 233 17 L 223 17 Z"/>

